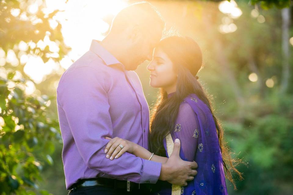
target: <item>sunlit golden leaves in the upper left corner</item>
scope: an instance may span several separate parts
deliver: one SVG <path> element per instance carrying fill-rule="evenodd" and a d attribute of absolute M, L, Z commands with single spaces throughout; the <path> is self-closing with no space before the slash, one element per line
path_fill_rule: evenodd
<path fill-rule="evenodd" d="M 9 49 L 13 49 L 14 44 L 18 44 L 20 41 L 24 42 L 34 42 L 37 43 L 39 40 L 44 39 L 45 35 L 50 36 L 51 41 L 55 41 L 59 45 L 59 56 L 52 55 L 53 52 L 49 51 L 49 46 L 45 47 L 44 50 L 38 47 L 29 47 L 26 51 L 27 54 L 34 54 L 42 57 L 44 62 L 47 62 L 50 58 L 54 61 L 59 61 L 70 51 L 64 42 L 63 36 L 61 34 L 61 24 L 55 29 L 50 27 L 50 21 L 53 16 L 59 12 L 55 10 L 54 12 L 45 15 L 43 12 L 37 12 L 31 14 L 27 12 L 28 6 L 31 5 L 26 1 L 1 1 L 0 2 L 0 43 L 1 48 L 7 52 Z M 38 9 L 45 7 L 45 3 L 40 5 Z M 18 16 L 13 16 L 11 14 L 12 9 L 19 9 L 20 13 Z M 23 18 L 27 18 L 26 20 Z M 19 51 L 15 51 L 16 56 Z"/>

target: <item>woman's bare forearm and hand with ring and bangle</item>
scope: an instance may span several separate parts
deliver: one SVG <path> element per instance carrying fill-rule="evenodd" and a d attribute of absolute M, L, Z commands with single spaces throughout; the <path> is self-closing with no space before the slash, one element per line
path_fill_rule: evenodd
<path fill-rule="evenodd" d="M 110 160 L 119 158 L 125 152 L 132 153 L 135 156 L 146 160 L 149 160 L 152 155 L 150 151 L 131 141 L 124 140 L 119 137 L 115 137 L 113 139 L 106 137 L 106 139 L 110 140 L 105 147 L 105 153 L 107 152 L 106 158 L 110 158 Z M 120 144 L 123 146 L 123 148 L 119 146 Z M 168 158 L 154 154 L 150 160 L 164 164 L 167 162 Z"/>

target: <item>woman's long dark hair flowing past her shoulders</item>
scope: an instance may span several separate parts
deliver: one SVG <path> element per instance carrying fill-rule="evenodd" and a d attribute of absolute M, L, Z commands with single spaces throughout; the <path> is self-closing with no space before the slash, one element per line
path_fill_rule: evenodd
<path fill-rule="evenodd" d="M 187 95 L 196 94 L 198 98 L 208 105 L 213 115 L 219 137 L 223 165 L 226 170 L 225 176 L 233 183 L 234 189 L 236 189 L 232 172 L 234 171 L 240 179 L 243 179 L 242 173 L 235 168 L 235 164 L 240 160 L 231 157 L 231 152 L 224 141 L 224 130 L 214 115 L 214 109 L 203 87 L 195 78 L 202 65 L 200 47 L 189 37 L 172 36 L 161 40 L 157 48 L 161 48 L 171 59 L 178 78 L 175 94 L 171 98 L 167 98 L 167 92 L 161 88 L 157 102 L 152 109 L 149 136 L 150 151 L 160 156 L 166 155 L 163 139 L 170 133 L 170 129 L 174 129 L 180 103 Z"/>

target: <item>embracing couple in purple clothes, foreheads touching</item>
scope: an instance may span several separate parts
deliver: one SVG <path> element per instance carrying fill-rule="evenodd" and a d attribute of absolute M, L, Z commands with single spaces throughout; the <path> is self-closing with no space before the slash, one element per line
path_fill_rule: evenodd
<path fill-rule="evenodd" d="M 57 106 L 69 194 L 227 194 L 224 168 L 228 179 L 228 165 L 237 170 L 197 81 L 201 49 L 189 37 L 161 40 L 164 28 L 151 4 L 132 4 L 63 73 Z M 145 60 L 150 86 L 161 90 L 151 119 L 133 71 Z"/>

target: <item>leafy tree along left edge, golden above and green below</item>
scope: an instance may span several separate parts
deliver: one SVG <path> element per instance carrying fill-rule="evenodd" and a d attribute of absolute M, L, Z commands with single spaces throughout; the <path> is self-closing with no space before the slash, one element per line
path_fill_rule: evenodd
<path fill-rule="evenodd" d="M 58 62 L 70 50 L 63 42 L 60 23 L 54 19 L 58 10 L 38 11 L 44 8 L 43 1 L 0 1 L 1 195 L 48 194 L 36 182 L 42 180 L 43 166 L 53 164 L 54 143 L 62 143 L 56 112 L 48 111 L 55 97 L 28 92 L 34 83 L 19 66 L 27 56 Z M 51 45 L 43 47 L 45 39 Z M 9 61 L 10 54 L 14 58 Z"/>

